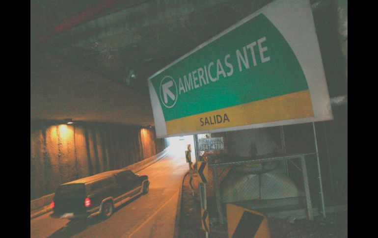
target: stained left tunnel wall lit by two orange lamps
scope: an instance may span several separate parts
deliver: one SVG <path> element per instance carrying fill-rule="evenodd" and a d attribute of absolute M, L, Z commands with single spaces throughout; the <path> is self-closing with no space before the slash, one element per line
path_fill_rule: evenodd
<path fill-rule="evenodd" d="M 60 184 L 119 169 L 161 152 L 153 128 L 30 122 L 30 200 Z"/>

